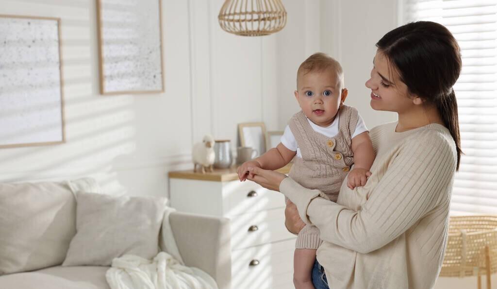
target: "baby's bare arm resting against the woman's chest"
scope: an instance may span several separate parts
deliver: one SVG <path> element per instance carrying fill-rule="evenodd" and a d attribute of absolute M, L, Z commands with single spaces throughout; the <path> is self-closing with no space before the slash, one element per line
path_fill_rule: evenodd
<path fill-rule="evenodd" d="M 354 152 L 354 169 L 348 174 L 348 187 L 366 185 L 367 177 L 371 176 L 371 166 L 375 158 L 373 144 L 367 131 L 358 134 L 352 139 L 352 151 Z"/>

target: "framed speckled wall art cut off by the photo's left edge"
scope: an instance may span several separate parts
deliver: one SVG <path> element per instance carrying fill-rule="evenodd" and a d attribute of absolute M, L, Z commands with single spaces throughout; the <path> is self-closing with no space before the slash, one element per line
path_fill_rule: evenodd
<path fill-rule="evenodd" d="M 0 147 L 63 142 L 60 19 L 0 15 Z"/>

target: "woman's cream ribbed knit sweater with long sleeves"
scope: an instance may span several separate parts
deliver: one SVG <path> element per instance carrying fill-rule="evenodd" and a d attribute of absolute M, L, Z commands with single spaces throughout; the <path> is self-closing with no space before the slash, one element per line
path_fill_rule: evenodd
<path fill-rule="evenodd" d="M 281 193 L 321 231 L 317 259 L 331 289 L 430 289 L 442 265 L 456 167 L 444 126 L 370 132 L 376 160 L 366 186 L 342 183 L 336 203 L 290 178 Z"/>

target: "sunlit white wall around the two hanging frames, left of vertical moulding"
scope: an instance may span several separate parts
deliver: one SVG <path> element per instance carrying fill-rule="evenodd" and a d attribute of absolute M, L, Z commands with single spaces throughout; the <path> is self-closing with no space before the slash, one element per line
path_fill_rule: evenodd
<path fill-rule="evenodd" d="M 163 194 L 166 168 L 191 146 L 187 4 L 163 5 L 166 93 L 101 96 L 94 0 L 1 0 L 2 14 L 62 19 L 67 143 L 0 150 L 0 179 L 93 176 L 109 191 Z"/>

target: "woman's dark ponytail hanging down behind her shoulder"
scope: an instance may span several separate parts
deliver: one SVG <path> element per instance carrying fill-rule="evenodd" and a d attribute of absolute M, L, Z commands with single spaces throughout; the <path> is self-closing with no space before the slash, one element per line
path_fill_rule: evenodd
<path fill-rule="evenodd" d="M 445 127 L 450 131 L 450 135 L 456 143 L 457 150 L 457 166 L 456 171 L 459 171 L 459 163 L 461 162 L 461 135 L 459 133 L 459 117 L 457 115 L 457 100 L 454 90 L 444 97 L 439 97 L 436 101 L 438 112 L 443 119 Z"/>

